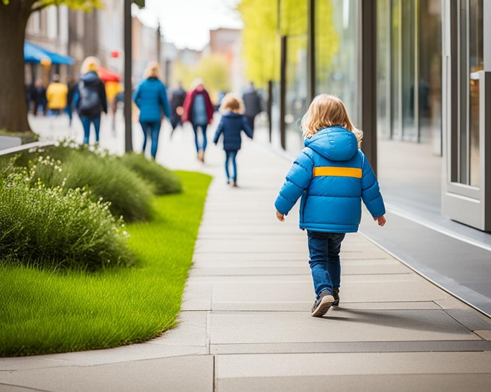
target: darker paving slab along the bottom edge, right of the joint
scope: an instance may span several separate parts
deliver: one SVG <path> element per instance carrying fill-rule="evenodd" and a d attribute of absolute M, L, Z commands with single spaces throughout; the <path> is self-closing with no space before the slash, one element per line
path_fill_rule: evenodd
<path fill-rule="evenodd" d="M 360 390 L 365 392 L 414 392 L 431 390 L 489 390 L 491 375 L 476 377 L 472 374 L 415 374 L 415 375 L 363 375 L 363 376 L 298 376 L 298 377 L 254 377 L 218 379 L 217 392 L 325 392 L 326 390 Z M 327 389 L 328 388 L 328 389 Z"/>

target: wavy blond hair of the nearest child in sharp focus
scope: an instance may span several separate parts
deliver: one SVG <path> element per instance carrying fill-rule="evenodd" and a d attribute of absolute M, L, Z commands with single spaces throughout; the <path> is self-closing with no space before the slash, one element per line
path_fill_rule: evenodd
<path fill-rule="evenodd" d="M 304 137 L 309 139 L 321 129 L 335 126 L 353 132 L 356 140 L 358 140 L 358 148 L 361 147 L 363 132 L 354 128 L 343 101 L 331 94 L 317 95 L 302 118 Z"/>

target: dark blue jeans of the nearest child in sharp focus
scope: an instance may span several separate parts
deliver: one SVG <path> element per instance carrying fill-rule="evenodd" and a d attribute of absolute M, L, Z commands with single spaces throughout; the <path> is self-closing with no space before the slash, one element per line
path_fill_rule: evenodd
<path fill-rule="evenodd" d="M 339 252 L 345 233 L 321 233 L 307 231 L 310 271 L 316 296 L 323 290 L 339 287 L 341 283 L 341 262 Z"/>

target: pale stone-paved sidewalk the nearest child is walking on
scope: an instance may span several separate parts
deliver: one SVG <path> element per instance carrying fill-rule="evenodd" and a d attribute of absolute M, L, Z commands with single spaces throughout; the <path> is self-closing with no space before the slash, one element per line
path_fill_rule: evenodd
<path fill-rule="evenodd" d="M 189 129 L 161 142 L 164 164 L 215 175 L 180 326 L 144 344 L 1 358 L 0 391 L 488 390 L 491 321 L 361 234 L 343 242 L 341 306 L 310 316 L 298 209 L 284 223 L 273 209 L 289 162 L 246 140 L 233 189 L 219 148 L 202 165 Z"/>

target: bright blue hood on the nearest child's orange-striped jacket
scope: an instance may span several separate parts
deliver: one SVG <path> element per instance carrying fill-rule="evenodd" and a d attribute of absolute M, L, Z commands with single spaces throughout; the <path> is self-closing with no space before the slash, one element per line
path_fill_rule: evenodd
<path fill-rule="evenodd" d="M 343 127 L 324 128 L 304 144 L 332 161 L 347 161 L 358 151 L 356 136 Z"/>

